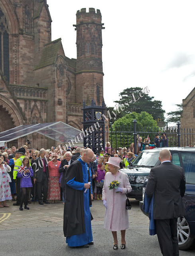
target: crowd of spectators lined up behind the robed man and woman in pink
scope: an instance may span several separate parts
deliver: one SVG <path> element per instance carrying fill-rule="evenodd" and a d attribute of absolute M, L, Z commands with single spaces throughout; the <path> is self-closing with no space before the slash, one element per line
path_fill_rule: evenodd
<path fill-rule="evenodd" d="M 111 148 L 110 142 L 106 142 L 105 150 L 99 148 L 89 163 L 93 200 L 102 199 L 104 176 L 108 172 L 106 162 L 110 157 L 120 157 L 120 168 L 128 168 L 142 150 L 167 145 L 168 140 L 165 134 L 160 137 L 159 134 L 155 134 L 154 142 L 150 142 L 149 138 L 145 138 L 142 142 L 142 137 L 138 134 L 136 152 L 134 143 L 131 143 L 128 148 L 114 149 Z M 81 158 L 84 150 L 84 147 L 72 147 L 67 150 L 63 150 L 63 147 L 51 147 L 51 149 L 41 148 L 39 150 L 38 148 L 30 148 L 29 142 L 26 142 L 21 148 L 16 149 L 15 146 L 12 146 L 6 152 L 1 150 L 0 172 L 2 180 L 0 182 L 5 182 L 3 184 L 6 186 L 2 185 L 0 188 L 0 207 L 8 207 L 6 200 L 10 199 L 16 200 L 14 206 L 20 206 L 20 210 L 23 210 L 23 203 L 25 209 L 29 209 L 27 205 L 33 201 L 43 205 L 43 203 L 54 204 L 62 200 L 64 204 L 65 172 L 73 161 Z"/>

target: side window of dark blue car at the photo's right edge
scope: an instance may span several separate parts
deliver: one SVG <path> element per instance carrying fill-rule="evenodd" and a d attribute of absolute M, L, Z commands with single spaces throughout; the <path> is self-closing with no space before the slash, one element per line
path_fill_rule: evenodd
<path fill-rule="evenodd" d="M 195 154 L 181 152 L 181 158 L 183 161 L 186 183 L 195 184 Z"/>

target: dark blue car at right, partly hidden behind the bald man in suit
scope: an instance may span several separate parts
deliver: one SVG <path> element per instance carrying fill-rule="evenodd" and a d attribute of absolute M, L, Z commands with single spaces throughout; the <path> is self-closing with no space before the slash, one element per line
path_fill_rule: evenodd
<path fill-rule="evenodd" d="M 195 148 L 177 148 L 170 151 L 171 162 L 183 167 L 185 171 L 186 186 L 182 199 L 186 214 L 177 220 L 177 238 L 179 249 L 187 250 L 195 245 Z M 144 214 L 146 213 L 143 211 L 143 199 L 147 182 L 148 180 L 144 182 L 140 202 L 140 209 Z"/>

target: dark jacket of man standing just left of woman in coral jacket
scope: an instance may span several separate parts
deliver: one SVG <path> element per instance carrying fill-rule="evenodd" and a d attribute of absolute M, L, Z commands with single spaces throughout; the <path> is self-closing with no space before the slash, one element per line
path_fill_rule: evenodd
<path fill-rule="evenodd" d="M 42 162 L 40 157 L 38 157 L 37 159 L 34 160 L 34 163 L 32 165 L 32 169 L 33 169 L 33 179 L 37 179 L 37 182 L 41 182 L 42 178 L 43 178 L 43 167 L 42 166 Z M 47 174 L 47 179 L 49 180 L 49 170 L 48 170 L 48 166 L 47 166 L 47 162 L 45 160 L 45 158 L 43 158 L 44 162 L 45 162 L 45 170 L 46 170 L 46 174 Z M 37 170 L 37 171 L 36 171 Z"/>

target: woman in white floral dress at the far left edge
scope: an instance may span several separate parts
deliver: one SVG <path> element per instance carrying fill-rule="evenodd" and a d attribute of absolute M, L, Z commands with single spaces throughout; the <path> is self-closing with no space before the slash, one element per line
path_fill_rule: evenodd
<path fill-rule="evenodd" d="M 11 171 L 10 166 L 0 156 L 0 207 L 9 207 L 6 204 L 6 200 L 12 199 L 10 183 L 12 182 L 8 172 Z"/>

